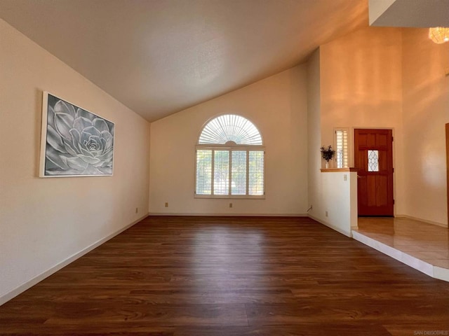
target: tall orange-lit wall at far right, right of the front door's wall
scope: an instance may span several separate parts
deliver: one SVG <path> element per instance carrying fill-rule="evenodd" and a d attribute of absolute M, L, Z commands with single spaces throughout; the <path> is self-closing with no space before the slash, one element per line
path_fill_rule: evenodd
<path fill-rule="evenodd" d="M 403 29 L 403 214 L 447 226 L 449 43 L 438 45 L 427 36 L 428 29 Z"/>

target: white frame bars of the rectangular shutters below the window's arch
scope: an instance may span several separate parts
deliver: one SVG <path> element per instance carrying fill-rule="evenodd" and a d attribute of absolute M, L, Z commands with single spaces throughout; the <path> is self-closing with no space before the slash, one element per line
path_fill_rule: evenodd
<path fill-rule="evenodd" d="M 211 193 L 210 195 L 204 195 L 204 194 L 197 194 L 196 193 L 196 174 L 197 174 L 197 160 L 196 160 L 196 155 L 197 155 L 197 151 L 229 151 L 229 187 L 228 187 L 228 194 L 227 195 L 213 195 L 213 191 L 214 191 L 214 156 L 212 155 L 212 180 L 211 180 Z M 246 195 L 232 195 L 232 152 L 233 151 L 246 151 Z M 264 171 L 263 171 L 263 176 L 264 176 L 264 183 L 263 183 L 263 194 L 262 195 L 248 195 L 248 183 L 249 183 L 249 152 L 252 151 L 261 151 L 264 153 Z M 214 152 L 213 152 L 214 153 Z M 240 198 L 240 199 L 264 199 L 265 198 L 265 169 L 266 169 L 266 165 L 265 165 L 265 148 L 264 146 L 259 146 L 259 145 L 232 145 L 229 146 L 229 144 L 225 144 L 225 145 L 220 145 L 220 144 L 214 144 L 214 145 L 210 145 L 210 144 L 206 144 L 206 145 L 196 145 L 195 148 L 195 190 L 194 190 L 194 197 L 195 198 Z"/>

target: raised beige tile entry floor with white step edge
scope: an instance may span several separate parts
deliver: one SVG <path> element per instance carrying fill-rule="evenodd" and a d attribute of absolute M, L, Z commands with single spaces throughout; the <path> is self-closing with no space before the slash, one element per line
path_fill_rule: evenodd
<path fill-rule="evenodd" d="M 436 279 L 449 281 L 449 229 L 410 218 L 358 218 L 354 239 Z"/>

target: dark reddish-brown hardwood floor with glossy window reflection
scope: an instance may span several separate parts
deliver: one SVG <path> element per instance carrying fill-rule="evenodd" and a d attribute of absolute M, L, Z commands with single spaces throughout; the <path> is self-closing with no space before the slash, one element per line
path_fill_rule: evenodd
<path fill-rule="evenodd" d="M 6 302 L 0 334 L 449 335 L 449 283 L 308 218 L 149 217 Z"/>

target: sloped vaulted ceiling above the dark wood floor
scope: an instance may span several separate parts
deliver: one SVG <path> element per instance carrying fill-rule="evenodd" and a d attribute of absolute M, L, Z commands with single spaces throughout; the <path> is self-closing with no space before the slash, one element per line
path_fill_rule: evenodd
<path fill-rule="evenodd" d="M 368 0 L 0 0 L 0 18 L 152 121 L 368 27 Z"/>

